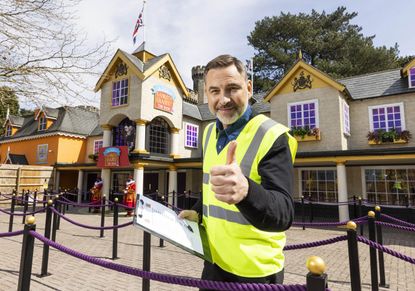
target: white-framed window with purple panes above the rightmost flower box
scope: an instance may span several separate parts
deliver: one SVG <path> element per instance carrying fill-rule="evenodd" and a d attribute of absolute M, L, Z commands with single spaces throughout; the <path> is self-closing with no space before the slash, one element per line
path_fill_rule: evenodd
<path fill-rule="evenodd" d="M 369 106 L 370 131 L 405 130 L 403 103 Z"/>

